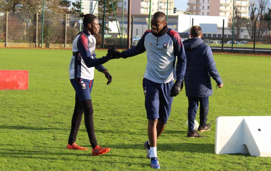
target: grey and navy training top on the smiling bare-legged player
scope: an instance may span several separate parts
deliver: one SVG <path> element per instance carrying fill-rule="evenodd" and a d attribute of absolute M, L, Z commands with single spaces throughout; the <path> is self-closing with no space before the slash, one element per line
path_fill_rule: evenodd
<path fill-rule="evenodd" d="M 176 79 L 183 82 L 186 56 L 180 35 L 172 30 L 162 36 L 155 36 L 151 30 L 145 31 L 138 44 L 121 52 L 122 58 L 138 55 L 147 51 L 147 66 L 144 78 L 156 83 L 167 83 Z M 176 63 L 175 71 L 175 63 Z"/>

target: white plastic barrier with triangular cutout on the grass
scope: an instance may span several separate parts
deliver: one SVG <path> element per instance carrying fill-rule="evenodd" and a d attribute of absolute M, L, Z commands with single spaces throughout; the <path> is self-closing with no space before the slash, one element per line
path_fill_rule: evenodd
<path fill-rule="evenodd" d="M 271 116 L 217 117 L 215 153 L 271 157 Z"/>

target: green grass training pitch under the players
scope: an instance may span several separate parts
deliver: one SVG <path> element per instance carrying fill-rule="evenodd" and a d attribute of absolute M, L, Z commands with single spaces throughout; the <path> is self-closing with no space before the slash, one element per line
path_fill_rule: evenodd
<path fill-rule="evenodd" d="M 105 50 L 97 50 L 102 57 Z M 2 70 L 28 70 L 29 90 L 0 91 L 0 170 L 152 170 L 145 158 L 147 119 L 142 78 L 146 53 L 104 64 L 113 76 L 95 71 L 92 91 L 95 133 L 111 151 L 65 149 L 74 108 L 69 81 L 71 50 L 0 49 Z M 205 139 L 186 137 L 188 100 L 181 92 L 158 139 L 163 170 L 271 170 L 271 158 L 216 155 L 215 120 L 218 116 L 270 116 L 271 58 L 245 55 L 214 56 L 224 87 L 210 97 Z M 197 115 L 197 121 L 199 116 Z M 230 125 L 229 125 L 230 126 Z M 82 122 L 77 143 L 90 147 Z"/>

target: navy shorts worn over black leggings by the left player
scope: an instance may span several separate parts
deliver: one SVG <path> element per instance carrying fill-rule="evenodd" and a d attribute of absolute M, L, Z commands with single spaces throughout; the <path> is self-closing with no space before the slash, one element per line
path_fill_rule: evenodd
<path fill-rule="evenodd" d="M 70 79 L 75 90 L 75 97 L 77 97 L 79 101 L 91 99 L 90 93 L 93 87 L 93 80 L 83 78 Z"/>

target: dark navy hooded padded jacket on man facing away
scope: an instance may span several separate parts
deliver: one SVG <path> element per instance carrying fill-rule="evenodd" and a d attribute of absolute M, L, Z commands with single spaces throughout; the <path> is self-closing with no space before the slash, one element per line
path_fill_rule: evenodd
<path fill-rule="evenodd" d="M 186 54 L 186 70 L 184 84 L 186 96 L 206 97 L 213 94 L 211 78 L 217 85 L 222 80 L 216 69 L 210 46 L 204 44 L 200 38 L 191 38 L 183 41 Z"/>

